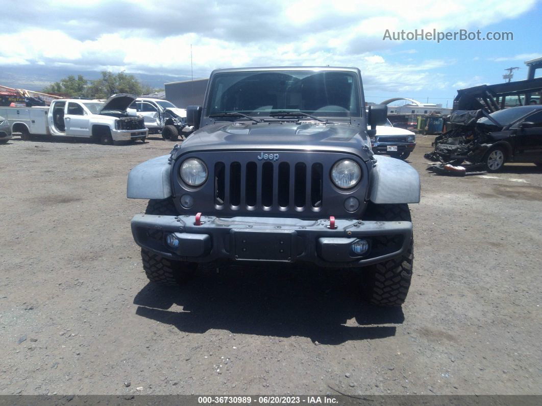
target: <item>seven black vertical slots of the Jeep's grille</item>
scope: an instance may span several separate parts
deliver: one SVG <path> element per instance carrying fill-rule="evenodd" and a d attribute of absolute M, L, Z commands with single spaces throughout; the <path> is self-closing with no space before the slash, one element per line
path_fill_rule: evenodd
<path fill-rule="evenodd" d="M 320 163 L 217 162 L 215 207 L 254 210 L 318 210 L 322 206 L 324 167 Z"/>

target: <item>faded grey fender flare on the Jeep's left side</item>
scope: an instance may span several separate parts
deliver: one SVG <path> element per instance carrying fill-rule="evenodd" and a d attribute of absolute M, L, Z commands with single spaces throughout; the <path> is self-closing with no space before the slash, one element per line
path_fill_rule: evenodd
<path fill-rule="evenodd" d="M 126 197 L 131 199 L 165 199 L 171 196 L 169 155 L 149 159 L 128 173 Z"/>

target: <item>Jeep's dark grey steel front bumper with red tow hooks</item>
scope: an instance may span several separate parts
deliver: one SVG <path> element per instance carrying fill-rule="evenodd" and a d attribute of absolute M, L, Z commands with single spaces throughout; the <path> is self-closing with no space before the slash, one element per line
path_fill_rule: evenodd
<path fill-rule="evenodd" d="M 190 262 L 215 260 L 312 262 L 327 267 L 366 266 L 406 252 L 412 223 L 406 221 L 328 220 L 297 218 L 136 215 L 132 234 L 140 246 L 164 257 Z M 177 248 L 166 236 L 174 234 Z M 369 242 L 364 255 L 351 244 Z"/>

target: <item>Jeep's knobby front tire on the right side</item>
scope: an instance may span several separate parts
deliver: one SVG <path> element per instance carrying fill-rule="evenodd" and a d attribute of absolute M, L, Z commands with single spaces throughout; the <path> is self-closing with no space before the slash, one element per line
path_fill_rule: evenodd
<path fill-rule="evenodd" d="M 410 210 L 406 204 L 370 203 L 363 219 L 411 221 Z M 393 242 L 392 240 L 388 237 L 373 238 L 373 248 L 379 244 L 389 246 Z M 402 256 L 360 269 L 364 298 L 377 306 L 401 306 L 410 288 L 413 259 L 414 240 L 411 237 L 409 248 Z"/>

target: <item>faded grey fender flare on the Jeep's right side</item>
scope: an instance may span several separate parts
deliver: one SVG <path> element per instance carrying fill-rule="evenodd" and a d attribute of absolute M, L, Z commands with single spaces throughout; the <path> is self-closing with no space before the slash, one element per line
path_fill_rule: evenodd
<path fill-rule="evenodd" d="M 397 158 L 375 155 L 369 179 L 369 200 L 376 204 L 420 203 L 420 175 Z"/>

